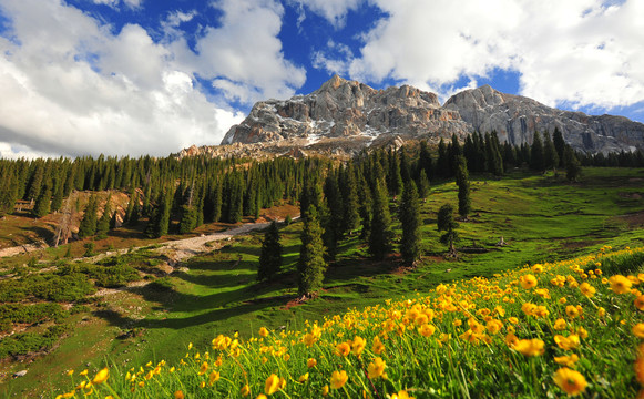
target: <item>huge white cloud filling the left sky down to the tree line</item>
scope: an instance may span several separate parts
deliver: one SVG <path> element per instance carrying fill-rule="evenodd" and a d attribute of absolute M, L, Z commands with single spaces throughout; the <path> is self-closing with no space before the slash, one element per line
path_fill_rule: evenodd
<path fill-rule="evenodd" d="M 12 38 L 0 38 L 2 156 L 167 155 L 216 144 L 243 117 L 208 102 L 193 71 L 139 25 L 114 35 L 57 0 L 0 7 Z"/>

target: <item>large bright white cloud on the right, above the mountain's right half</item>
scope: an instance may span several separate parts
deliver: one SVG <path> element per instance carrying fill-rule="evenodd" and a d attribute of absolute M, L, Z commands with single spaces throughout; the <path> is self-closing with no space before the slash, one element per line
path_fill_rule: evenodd
<path fill-rule="evenodd" d="M 522 94 L 551 105 L 644 100 L 641 0 L 371 1 L 388 17 L 364 35 L 348 66 L 354 79 L 447 92 L 501 69 L 520 73 Z M 318 59 L 327 69 L 347 60 Z"/>

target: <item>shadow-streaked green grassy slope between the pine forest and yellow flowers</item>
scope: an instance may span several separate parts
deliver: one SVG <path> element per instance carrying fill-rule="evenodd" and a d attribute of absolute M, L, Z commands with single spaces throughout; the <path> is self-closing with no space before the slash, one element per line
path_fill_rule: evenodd
<path fill-rule="evenodd" d="M 104 356 L 119 365 L 139 366 L 149 360 L 175 359 L 187 342 L 204 346 L 217 334 L 238 330 L 242 337 L 260 326 L 301 327 L 304 319 L 340 313 L 348 307 L 381 303 L 384 298 L 410 295 L 415 289 L 477 275 L 491 276 L 525 263 L 555 260 L 597 249 L 603 244 L 642 245 L 644 231 L 636 221 L 644 202 L 641 170 L 585 170 L 580 184 L 552 176 L 511 175 L 499 181 L 472 182 L 471 221 L 461 223 L 461 246 L 490 249 L 444 262 L 438 244 L 436 212 L 446 202 L 456 203 L 453 183 L 433 186 L 422 205 L 426 258 L 415 270 L 401 273 L 396 257 L 374 264 L 357 238 L 340 246 L 339 262 L 331 265 L 321 299 L 289 307 L 295 298 L 294 268 L 299 249 L 300 224 L 283 229 L 285 272 L 273 284 L 256 284 L 260 235 L 241 237 L 221 252 L 191 259 L 187 270 L 173 274 L 173 289 L 160 293 L 147 287 L 111 297 L 109 304 L 74 326 L 74 332 L 51 355 L 29 366 L 24 378 L 8 381 L 16 396 L 38 392 L 64 380 L 67 369 L 90 369 Z M 620 217 L 630 215 L 628 217 Z M 494 247 L 503 236 L 509 246 Z M 241 260 L 239 260 L 241 256 Z M 140 327 L 134 338 L 115 339 Z M 24 391 L 24 390 L 28 391 Z"/>

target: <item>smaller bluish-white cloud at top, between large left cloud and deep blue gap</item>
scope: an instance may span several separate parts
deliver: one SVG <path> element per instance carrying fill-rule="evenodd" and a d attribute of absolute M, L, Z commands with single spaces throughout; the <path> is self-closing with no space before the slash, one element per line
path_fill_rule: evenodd
<path fill-rule="evenodd" d="M 288 98 L 306 81 L 306 71 L 284 58 L 283 7 L 273 0 L 222 0 L 221 27 L 205 29 L 193 53 L 185 42 L 177 59 L 215 86 L 251 104 L 267 98 Z"/>

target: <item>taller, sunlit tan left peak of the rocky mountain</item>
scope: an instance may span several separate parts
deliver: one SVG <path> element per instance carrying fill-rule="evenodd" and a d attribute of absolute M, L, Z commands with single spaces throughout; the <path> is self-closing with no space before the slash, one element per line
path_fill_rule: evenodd
<path fill-rule="evenodd" d="M 420 137 L 428 132 L 448 137 L 470 130 L 458 112 L 441 108 L 433 93 L 408 85 L 375 90 L 336 75 L 311 94 L 256 103 L 222 144 L 292 139 L 316 143 L 320 137 L 381 134 Z"/>

